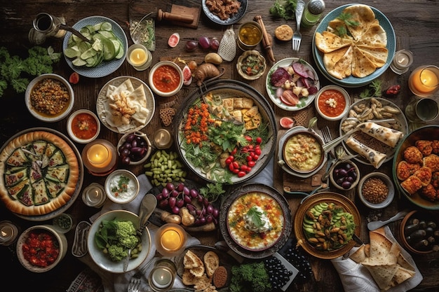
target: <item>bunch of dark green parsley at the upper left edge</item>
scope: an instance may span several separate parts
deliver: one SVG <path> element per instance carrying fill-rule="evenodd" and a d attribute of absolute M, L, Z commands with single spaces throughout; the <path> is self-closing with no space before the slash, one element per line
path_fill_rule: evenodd
<path fill-rule="evenodd" d="M 48 49 L 34 46 L 28 50 L 29 56 L 24 60 L 18 55 L 11 55 L 5 47 L 0 47 L 0 97 L 8 86 L 15 92 L 25 92 L 29 84 L 29 76 L 52 73 L 52 64 L 60 60 L 61 53 L 53 53 Z"/>

